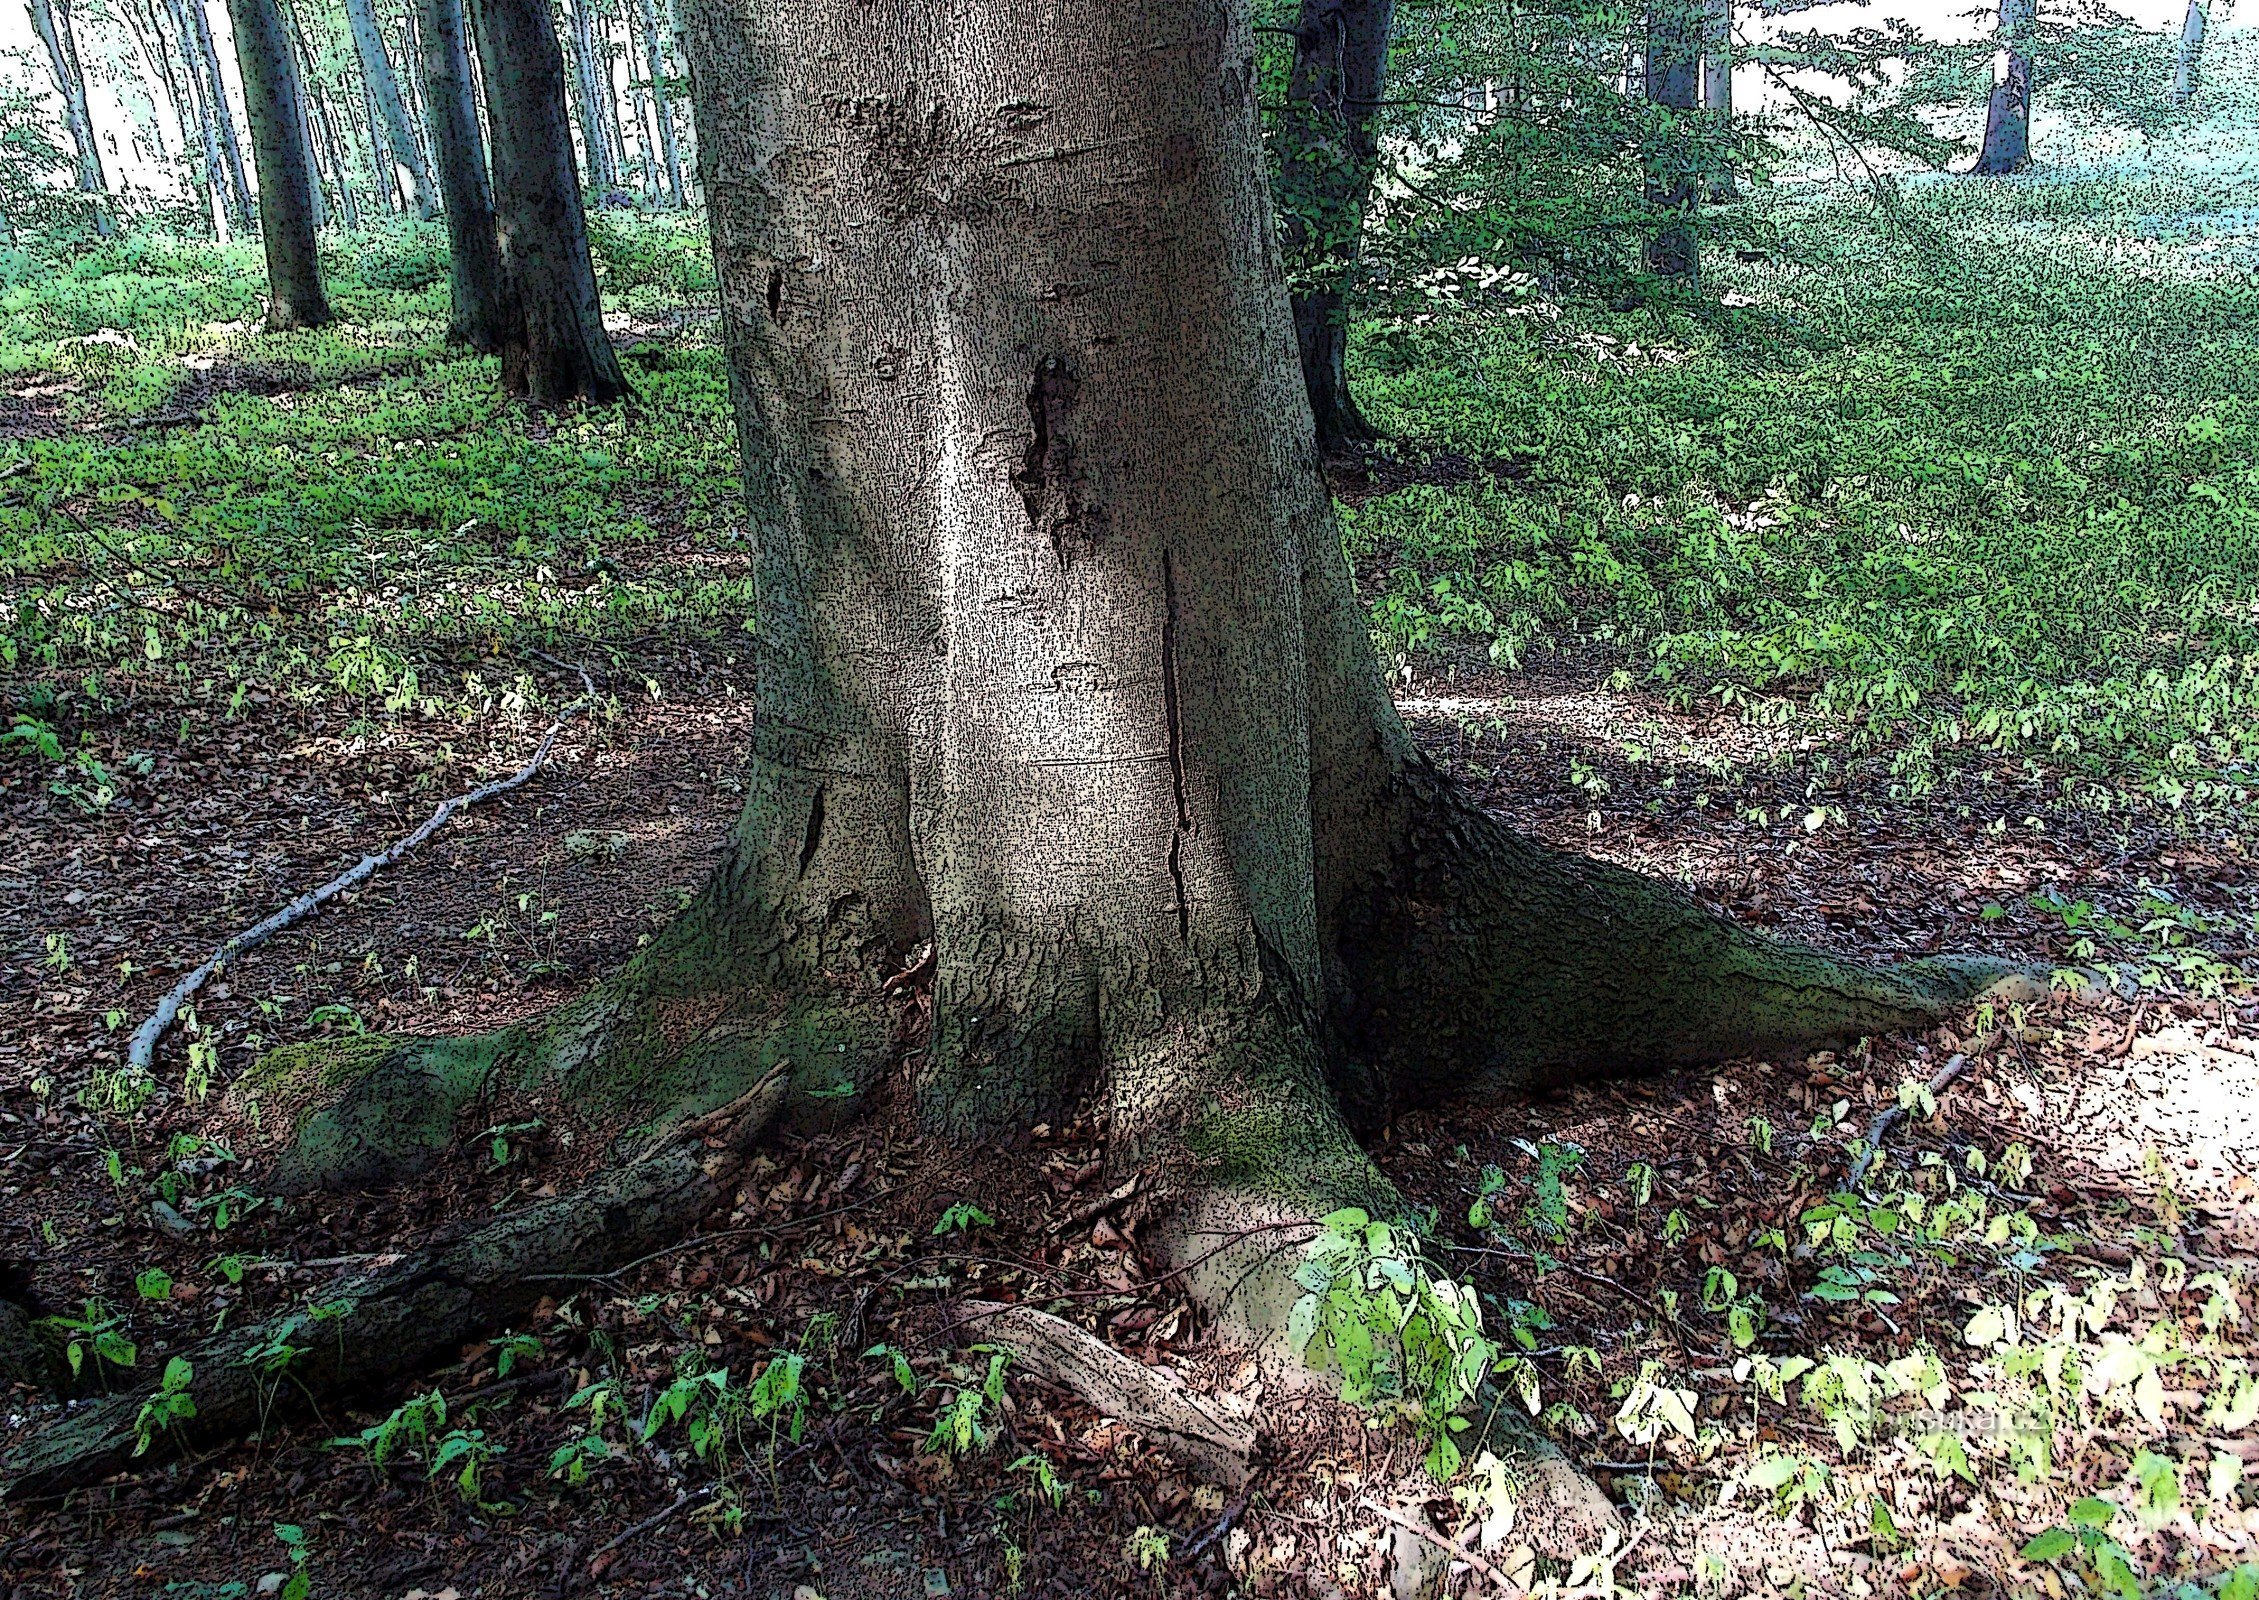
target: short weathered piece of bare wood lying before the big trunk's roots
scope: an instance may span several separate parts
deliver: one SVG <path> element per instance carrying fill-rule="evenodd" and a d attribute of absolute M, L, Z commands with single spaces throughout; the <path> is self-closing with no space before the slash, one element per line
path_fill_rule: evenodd
<path fill-rule="evenodd" d="M 1188 1388 L 1168 1367 L 1130 1360 L 1096 1333 L 1032 1306 L 969 1299 L 960 1306 L 960 1327 L 1130 1424 L 1172 1462 L 1229 1489 L 1247 1487 L 1258 1449 L 1254 1421 Z"/>

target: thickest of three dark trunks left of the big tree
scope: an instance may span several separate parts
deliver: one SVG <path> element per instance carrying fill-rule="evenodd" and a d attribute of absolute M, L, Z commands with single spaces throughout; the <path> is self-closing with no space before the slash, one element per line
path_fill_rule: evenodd
<path fill-rule="evenodd" d="M 587 215 L 565 122 L 565 54 L 547 0 L 474 0 L 495 140 L 495 221 L 511 298 L 501 382 L 535 405 L 628 391 L 603 330 Z"/>

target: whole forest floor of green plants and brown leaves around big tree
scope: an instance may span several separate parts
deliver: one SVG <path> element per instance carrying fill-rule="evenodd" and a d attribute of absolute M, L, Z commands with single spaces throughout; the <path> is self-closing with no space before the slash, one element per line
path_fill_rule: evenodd
<path fill-rule="evenodd" d="M 90 1392 L 569 1182 L 585 1153 L 511 1125 L 400 1191 L 282 1202 L 258 1130 L 215 1137 L 219 1096 L 278 1042 L 569 999 L 682 904 L 741 800 L 750 579 L 696 242 L 608 244 L 642 402 L 551 423 L 429 346 L 434 280 L 398 287 L 429 240 L 402 237 L 334 262 L 343 332 L 251 334 L 248 255 L 142 244 L 0 328 L 0 1297 Z M 1746 298 L 1789 325 L 1823 267 L 1753 267 Z M 1665 328 L 1669 359 L 1631 321 L 1371 332 L 1376 409 L 1419 443 L 1340 488 L 1441 764 L 1782 936 L 2103 974 L 1927 1037 L 1383 1130 L 1437 1263 L 1636 1532 L 1563 1568 L 1493 1525 L 1462 1593 L 2062 1600 L 2259 1562 L 2254 346 L 2200 282 L 2178 366 L 1961 400 L 1950 368 L 2001 328 L 1929 337 L 1927 280 L 1870 269 L 1828 267 L 1873 292 L 1857 314 L 1900 307 L 1889 371 L 1805 323 Z M 2094 287 L 1999 282 L 2033 296 L 2006 314 L 2026 339 Z M 2081 359 L 2094 319 L 2047 328 L 2062 353 L 2026 364 Z M 124 1069 L 176 974 L 576 703 L 540 775 Z M 962 1347 L 976 1293 L 1211 1360 L 1098 1155 L 1087 1119 L 933 1148 L 892 1101 L 779 1139 L 696 1238 L 560 1281 L 413 1390 L 316 1417 L 285 1367 L 260 1440 L 0 1505 L 0 1591 L 219 1600 L 300 1562 L 314 1595 L 386 1600 L 1367 1591 L 1358 1501 L 1407 1437 L 1281 1419 L 1227 1503 Z M 18 1392 L 5 1421 L 43 1412 Z M 1473 1478 L 1430 1505 L 1471 1548 L 1484 1510 Z"/>

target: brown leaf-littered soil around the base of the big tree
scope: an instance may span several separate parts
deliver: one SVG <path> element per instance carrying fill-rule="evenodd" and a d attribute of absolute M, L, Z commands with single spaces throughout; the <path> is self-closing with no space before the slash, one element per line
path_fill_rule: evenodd
<path fill-rule="evenodd" d="M 558 701 L 576 694 L 569 664 L 533 667 L 553 676 Z M 2074 949 L 2078 936 L 2033 906 L 2051 890 L 2135 924 L 2146 902 L 2166 897 L 2241 927 L 2248 942 L 2254 868 L 2225 827 L 2072 809 L 2044 777 L 1981 762 L 1927 795 L 1893 793 L 1886 764 L 1852 759 L 1830 730 L 1678 714 L 1608 687 L 1611 667 L 1538 655 L 1516 676 L 1446 671 L 1407 685 L 1403 703 L 1434 757 L 1516 825 L 1672 875 L 1785 936 L 1866 954 L 1997 949 L 2092 965 Z M 106 807 L 59 793 L 54 773 L 32 762 L 5 768 L 0 1295 L 38 1315 L 84 1315 L 99 1302 L 93 1320 L 120 1318 L 136 1365 L 84 1349 L 88 1392 L 154 1374 L 219 1318 L 319 1304 L 375 1254 L 569 1180 L 576 1162 L 547 1130 L 511 1128 L 395 1193 L 278 1202 L 258 1195 L 248 1153 L 190 1141 L 210 1132 L 226 1082 L 267 1044 L 357 1026 L 461 1033 L 547 1010 L 682 904 L 739 805 L 750 673 L 657 651 L 603 687 L 621 692 L 617 714 L 569 723 L 531 784 L 465 814 L 212 985 L 194 1033 L 165 1040 L 158 1085 L 140 1105 L 120 1098 L 131 1096 L 117 1078 L 124 1040 L 178 972 L 409 832 L 438 798 L 515 768 L 544 721 L 492 719 L 409 741 L 282 698 L 253 696 L 235 721 L 217 721 L 210 705 L 113 685 L 108 710 L 66 728 L 68 741 L 93 734 L 117 775 Z M 183 714 L 206 723 L 194 755 L 178 753 Z M 2250 956 L 2236 936 L 2193 936 L 2205 940 L 2227 960 Z M 192 1040 L 217 1055 L 199 1067 Z M 2022 1144 L 2040 1216 L 2078 1223 L 2103 1259 L 2117 1250 L 2123 1261 L 2160 1229 L 2191 1259 L 2248 1256 L 2259 1245 L 2254 1040 L 2248 990 L 2105 992 L 1841 1058 L 1423 1107 L 1383 1130 L 1376 1155 L 1434 1207 L 1459 1270 L 1500 1302 L 1545 1311 L 1547 1399 L 1575 1401 L 1604 1428 L 1615 1412 L 1608 1383 L 1642 1354 L 1669 1351 L 1697 1379 L 1717 1379 L 1706 1406 L 1726 1403 L 1737 1385 L 1724 1381 L 1733 1351 L 1717 1320 L 1672 1320 L 1665 1295 L 1699 1306 L 1719 1266 L 1753 1286 L 1805 1281 L 1805 1263 L 1767 1252 L 1762 1229 L 1794 1229 L 1800 1209 L 1825 1198 L 1825 1177 L 1841 1180 L 1855 1137 L 1895 1103 L 1898 1085 L 1929 1078 L 1954 1053 L 1968 1071 L 1934 1119 L 1893 1132 L 1886 1162 L 1959 1162 L 1972 1144 Z M 1527 1184 L 1545 1141 L 1584 1153 L 1572 1225 L 1547 1250 L 1550 1268 L 1466 1227 L 1484 1168 Z M 1385 1433 L 1288 1419 L 1281 1460 L 1231 1505 L 1123 1424 L 1032 1381 L 1010 1383 L 987 1449 L 924 1449 L 944 1397 L 978 1390 L 987 1374 L 987 1358 L 960 1349 L 951 1327 L 949 1306 L 965 1295 L 1062 1306 L 1145 1360 L 1211 1360 L 1200 1318 L 1143 1256 L 1141 1195 L 1093 1214 L 1107 1198 L 1098 1157 L 1087 1123 L 1037 1128 L 1012 1148 L 933 1148 L 892 1103 L 843 1130 L 782 1137 L 730 1216 L 605 1281 L 558 1284 L 529 1327 L 513 1329 L 538 1347 L 497 1331 L 425 1376 L 420 1392 L 447 1399 L 445 1428 L 477 1431 L 492 1453 L 472 1485 L 459 1482 L 461 1458 L 434 1473 L 404 1446 L 380 1469 L 364 1449 L 337 1444 L 409 1392 L 314 1415 L 278 1383 L 262 1440 L 151 1464 L 68 1501 L 0 1507 L 0 1593 L 276 1593 L 294 1568 L 276 1525 L 300 1537 L 314 1595 L 386 1600 L 1292 1595 L 1333 1577 L 1362 1582 L 1376 1557 L 1344 1532 L 1355 1519 L 1337 1512 L 1383 1458 L 1410 1460 Z M 1633 1164 L 1651 1168 L 1645 1223 L 1608 1198 L 1624 1193 Z M 1687 1223 L 1656 1245 L 1636 1223 L 1663 1209 Z M 960 1227 L 942 1229 L 944 1218 Z M 151 1270 L 169 1279 L 163 1297 L 149 1297 Z M 1968 1315 L 1945 1281 L 1889 1308 L 1771 1299 L 1794 1311 L 1776 1315 L 1769 1338 L 1879 1360 L 1925 1333 L 1947 1338 Z M 890 1354 L 865 1356 L 881 1345 L 904 1351 L 917 1394 L 897 1383 Z M 1602 1376 L 1563 1360 L 1575 1345 L 1599 1354 Z M 585 1482 L 549 1473 L 553 1451 L 587 1435 L 594 1385 L 610 1381 L 639 1419 L 678 1374 L 727 1367 L 743 1385 L 786 1354 L 806 1356 L 813 1399 L 802 1419 L 748 1424 L 705 1453 L 682 1424 L 651 1440 L 614 1424 Z M 5 1421 L 43 1426 L 27 1392 L 7 1401 Z M 1821 1431 L 1812 1419 L 1778 1426 Z M 1706 1505 L 1717 1473 L 1615 1460 L 1631 1446 L 1602 1431 L 1570 1428 L 1568 1446 L 1651 1530 L 1626 1582 L 1687 1586 L 1692 1523 L 1672 1512 L 1692 1519 L 1687 1507 Z M 1057 1507 L 1039 1489 L 1044 1473 L 1062 1485 Z M 1922 1559 L 1931 1573 L 1959 1559 L 1963 1575 L 1979 1575 L 1965 1591 L 1981 1589 L 1997 1571 L 1997 1534 L 1968 1523 L 1961 1485 L 1938 1482 L 1931 1498 L 1940 1532 Z M 1909 1580 L 1898 1557 L 1769 1510 L 1701 1516 L 1712 1548 L 1724 1537 L 1739 1550 L 1758 1589 L 1893 1591 L 1925 1571 L 1916 1564 Z M 1154 1532 L 1166 1559 L 1150 1559 Z"/>

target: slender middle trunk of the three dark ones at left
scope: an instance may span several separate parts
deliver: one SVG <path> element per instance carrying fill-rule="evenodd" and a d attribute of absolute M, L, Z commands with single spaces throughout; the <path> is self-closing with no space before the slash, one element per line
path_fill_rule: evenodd
<path fill-rule="evenodd" d="M 495 235 L 463 0 L 418 0 L 416 27 L 441 210 L 447 215 L 447 339 L 492 355 L 508 341 L 513 307 Z"/>

